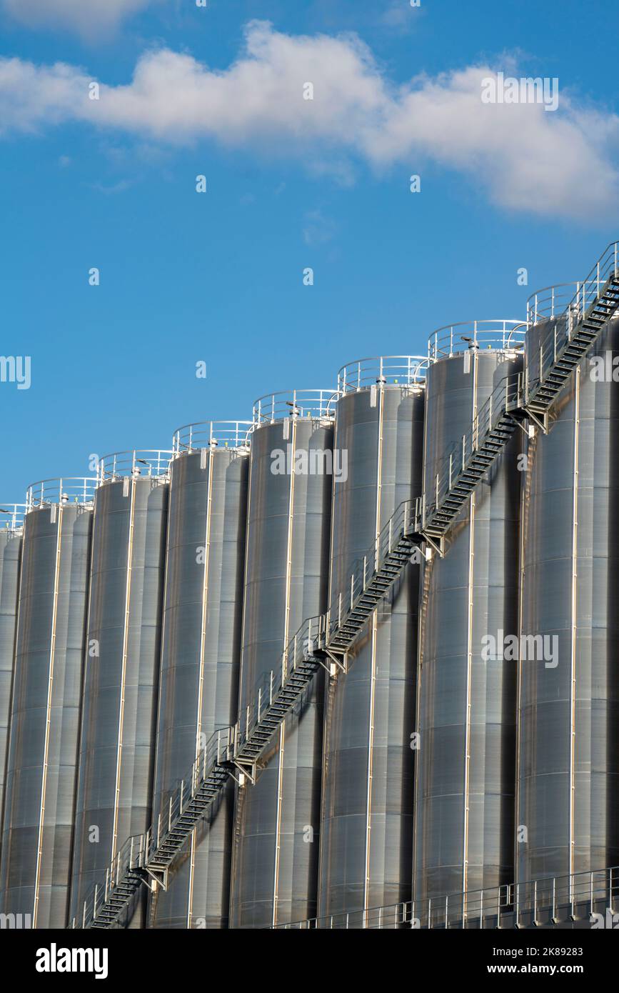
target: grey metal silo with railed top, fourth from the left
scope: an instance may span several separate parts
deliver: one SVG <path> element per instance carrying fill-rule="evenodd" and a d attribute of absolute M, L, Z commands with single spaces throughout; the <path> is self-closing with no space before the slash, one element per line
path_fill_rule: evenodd
<path fill-rule="evenodd" d="M 251 422 L 175 434 L 153 819 L 217 730 L 236 723 Z M 150 898 L 151 927 L 226 927 L 234 813 L 228 781 Z"/>

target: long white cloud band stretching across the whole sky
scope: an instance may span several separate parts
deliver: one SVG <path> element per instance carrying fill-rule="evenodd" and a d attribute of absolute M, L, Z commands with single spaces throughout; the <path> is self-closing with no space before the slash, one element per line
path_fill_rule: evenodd
<path fill-rule="evenodd" d="M 152 51 L 129 83 L 101 82 L 98 100 L 88 98 L 84 71 L 0 60 L 0 122 L 38 132 L 83 121 L 167 145 L 208 139 L 340 179 L 358 161 L 407 175 L 437 165 L 513 211 L 590 218 L 616 210 L 619 118 L 564 90 L 556 112 L 483 103 L 482 79 L 499 70 L 514 67 L 503 60 L 396 85 L 354 35 L 293 37 L 252 22 L 228 69 Z M 304 99 L 307 82 L 313 99 Z"/>

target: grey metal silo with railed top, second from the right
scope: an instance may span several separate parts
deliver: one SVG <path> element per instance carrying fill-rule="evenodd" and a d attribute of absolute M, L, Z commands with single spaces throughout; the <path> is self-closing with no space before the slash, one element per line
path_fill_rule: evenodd
<path fill-rule="evenodd" d="M 427 500 L 445 461 L 461 466 L 463 444 L 465 457 L 470 453 L 473 424 L 485 430 L 491 395 L 496 409 L 506 377 L 517 382 L 524 331 L 515 321 L 481 321 L 433 334 Z M 457 918 L 466 909 L 458 895 L 513 881 L 523 442 L 514 426 L 447 532 L 444 557 L 433 554 L 423 566 L 414 854 L 421 918 L 429 900 L 455 895 L 448 906 Z"/>

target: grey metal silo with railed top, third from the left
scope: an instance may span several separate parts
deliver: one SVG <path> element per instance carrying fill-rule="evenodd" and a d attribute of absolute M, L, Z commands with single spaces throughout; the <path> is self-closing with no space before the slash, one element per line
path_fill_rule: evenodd
<path fill-rule="evenodd" d="M 71 919 L 126 839 L 151 824 L 171 455 L 131 451 L 99 462 Z M 144 898 L 123 923 L 143 925 Z"/>

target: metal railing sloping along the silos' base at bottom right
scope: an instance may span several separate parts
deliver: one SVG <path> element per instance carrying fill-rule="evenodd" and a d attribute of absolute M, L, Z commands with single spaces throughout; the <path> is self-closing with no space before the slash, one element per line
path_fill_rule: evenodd
<path fill-rule="evenodd" d="M 282 930 L 514 927 L 583 921 L 611 926 L 619 910 L 619 867 L 574 873 L 421 901 L 278 924 Z"/>

